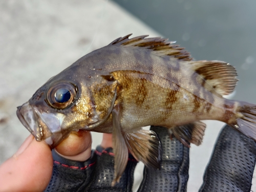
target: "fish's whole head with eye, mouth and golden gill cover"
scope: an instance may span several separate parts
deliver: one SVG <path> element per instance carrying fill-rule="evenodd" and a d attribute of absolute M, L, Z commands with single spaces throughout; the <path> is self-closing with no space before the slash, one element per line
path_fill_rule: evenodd
<path fill-rule="evenodd" d="M 45 140 L 54 148 L 72 131 L 91 131 L 106 121 L 115 104 L 116 88 L 111 75 L 65 78 L 60 74 L 18 106 L 17 116 L 37 141 Z"/>

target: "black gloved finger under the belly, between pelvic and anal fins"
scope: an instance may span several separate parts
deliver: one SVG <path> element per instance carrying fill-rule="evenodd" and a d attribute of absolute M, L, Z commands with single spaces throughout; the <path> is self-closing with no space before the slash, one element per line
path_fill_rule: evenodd
<path fill-rule="evenodd" d="M 178 139 L 169 138 L 165 127 L 151 126 L 162 145 L 160 169 L 144 168 L 144 177 L 138 189 L 142 191 L 186 191 L 189 168 L 189 148 Z"/>

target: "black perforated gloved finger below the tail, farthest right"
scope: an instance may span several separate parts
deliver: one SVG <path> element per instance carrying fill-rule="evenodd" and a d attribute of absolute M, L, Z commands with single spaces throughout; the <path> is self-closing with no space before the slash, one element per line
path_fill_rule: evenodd
<path fill-rule="evenodd" d="M 226 125 L 205 170 L 200 191 L 250 191 L 256 143 Z"/>

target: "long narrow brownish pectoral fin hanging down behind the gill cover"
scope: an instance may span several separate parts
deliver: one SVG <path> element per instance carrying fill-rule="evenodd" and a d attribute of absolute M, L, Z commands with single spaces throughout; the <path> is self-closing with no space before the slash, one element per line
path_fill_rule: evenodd
<path fill-rule="evenodd" d="M 121 126 L 120 126 L 119 105 L 114 106 L 114 109 L 112 111 L 112 119 L 113 119 L 113 141 L 112 142 L 113 142 L 113 150 L 115 154 L 115 158 L 114 158 L 115 173 L 114 173 L 112 186 L 114 186 L 116 182 L 119 182 L 128 161 L 128 149 L 124 141 L 124 138 L 121 132 Z"/>

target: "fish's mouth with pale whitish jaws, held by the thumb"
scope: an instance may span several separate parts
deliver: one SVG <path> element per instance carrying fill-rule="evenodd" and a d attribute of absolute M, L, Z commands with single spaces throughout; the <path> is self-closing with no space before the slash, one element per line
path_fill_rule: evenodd
<path fill-rule="evenodd" d="M 52 148 L 63 140 L 61 123 L 65 115 L 40 112 L 29 102 L 17 107 L 17 117 L 37 141 L 45 140 Z"/>

